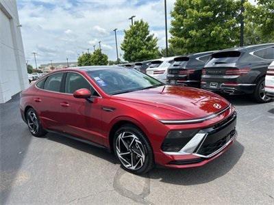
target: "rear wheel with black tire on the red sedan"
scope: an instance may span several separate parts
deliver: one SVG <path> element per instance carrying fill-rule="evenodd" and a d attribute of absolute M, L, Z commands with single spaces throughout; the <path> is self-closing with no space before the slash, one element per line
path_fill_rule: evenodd
<path fill-rule="evenodd" d="M 39 120 L 38 114 L 33 108 L 27 110 L 26 116 L 27 126 L 29 127 L 29 132 L 35 137 L 43 137 L 47 134 L 47 131 L 42 128 L 42 124 Z"/>

